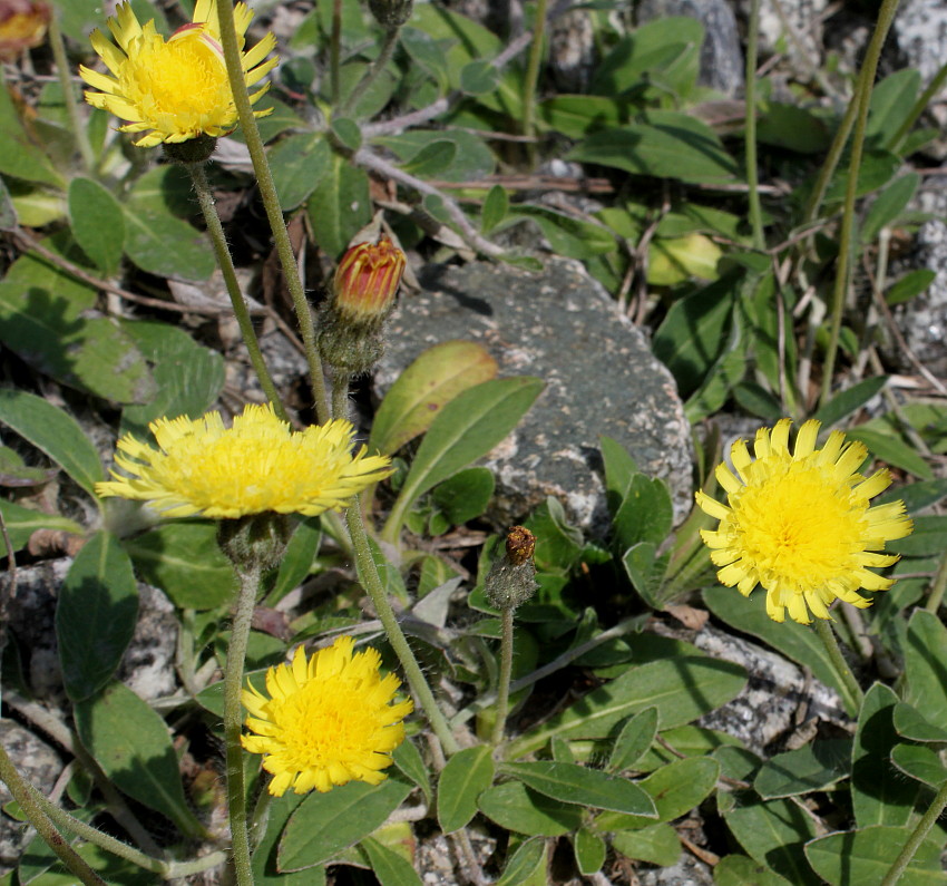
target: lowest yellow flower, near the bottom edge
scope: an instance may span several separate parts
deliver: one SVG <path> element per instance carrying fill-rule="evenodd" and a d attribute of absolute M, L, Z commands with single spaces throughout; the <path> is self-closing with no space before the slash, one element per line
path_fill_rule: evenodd
<path fill-rule="evenodd" d="M 275 797 L 289 788 L 325 792 L 349 781 L 384 780 L 381 770 L 404 740 L 401 721 L 413 704 L 393 702 L 398 678 L 380 676 L 378 652 L 352 654 L 354 645 L 353 637 L 340 636 L 309 661 L 299 646 L 292 664 L 266 672 L 270 698 L 253 687 L 243 691 L 246 726 L 256 734 L 241 740 L 251 753 L 265 754 Z"/>

